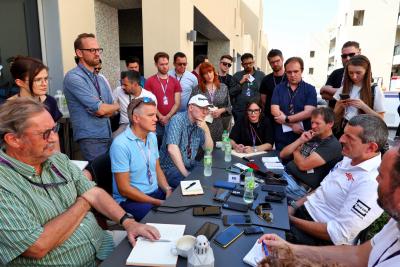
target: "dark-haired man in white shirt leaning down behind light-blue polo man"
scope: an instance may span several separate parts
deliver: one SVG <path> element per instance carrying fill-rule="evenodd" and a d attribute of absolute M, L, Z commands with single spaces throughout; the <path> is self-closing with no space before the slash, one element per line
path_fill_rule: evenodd
<path fill-rule="evenodd" d="M 115 88 L 114 99 L 120 106 L 119 128 L 113 133 L 116 137 L 129 125 L 127 108 L 129 103 L 139 97 L 150 97 L 157 105 L 156 96 L 140 86 L 140 73 L 134 70 L 124 71 L 121 74 L 121 86 Z"/>

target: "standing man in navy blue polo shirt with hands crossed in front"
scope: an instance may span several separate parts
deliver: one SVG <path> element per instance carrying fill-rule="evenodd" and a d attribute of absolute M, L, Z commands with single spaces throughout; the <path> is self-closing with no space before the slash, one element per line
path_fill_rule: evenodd
<path fill-rule="evenodd" d="M 311 112 L 317 106 L 315 87 L 301 78 L 304 62 L 291 57 L 285 62 L 287 82 L 275 87 L 271 99 L 271 114 L 277 123 L 275 147 L 278 151 L 311 128 Z"/>

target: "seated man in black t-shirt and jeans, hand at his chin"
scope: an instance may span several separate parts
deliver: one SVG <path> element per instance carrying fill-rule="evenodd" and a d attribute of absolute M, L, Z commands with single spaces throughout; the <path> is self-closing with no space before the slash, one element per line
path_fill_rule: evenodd
<path fill-rule="evenodd" d="M 282 159 L 293 157 L 283 173 L 288 181 L 286 192 L 299 199 L 317 188 L 329 171 L 342 160 L 342 146 L 332 133 L 335 122 L 329 107 L 316 108 L 311 113 L 311 130 L 284 147 Z"/>

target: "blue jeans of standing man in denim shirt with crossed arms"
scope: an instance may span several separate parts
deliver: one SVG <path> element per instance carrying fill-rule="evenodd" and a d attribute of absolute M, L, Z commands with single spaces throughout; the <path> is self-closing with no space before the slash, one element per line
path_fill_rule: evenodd
<path fill-rule="evenodd" d="M 111 138 L 85 138 L 78 140 L 82 156 L 89 162 L 108 152 L 111 142 Z"/>

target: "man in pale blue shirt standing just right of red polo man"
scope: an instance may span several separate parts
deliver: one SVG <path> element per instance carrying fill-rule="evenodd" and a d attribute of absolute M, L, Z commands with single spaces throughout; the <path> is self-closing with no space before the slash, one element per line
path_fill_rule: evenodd
<path fill-rule="evenodd" d="M 198 81 L 193 73 L 186 70 L 187 58 L 182 52 L 177 52 L 174 55 L 175 69 L 168 71 L 168 74 L 177 79 L 181 85 L 181 105 L 179 111 L 187 110 L 187 103 L 189 101 L 192 90 L 196 88 Z"/>

